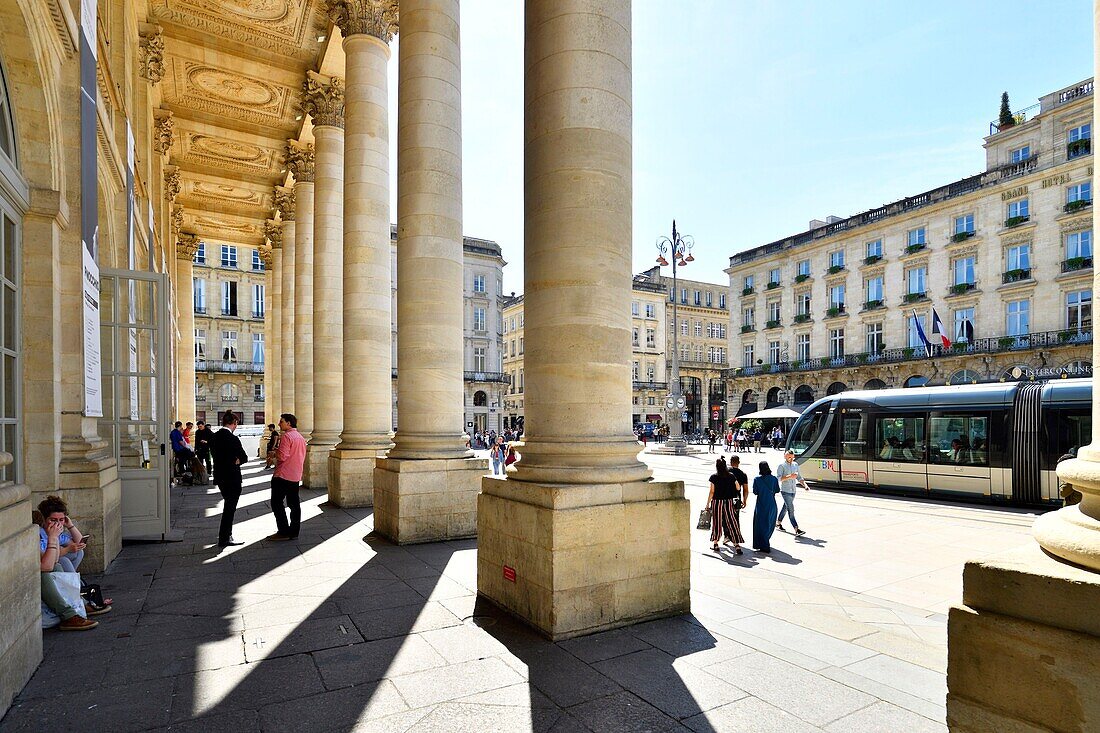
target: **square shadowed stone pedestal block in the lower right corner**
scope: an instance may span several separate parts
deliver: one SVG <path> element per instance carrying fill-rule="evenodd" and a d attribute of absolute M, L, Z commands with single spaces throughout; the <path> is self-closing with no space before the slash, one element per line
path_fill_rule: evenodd
<path fill-rule="evenodd" d="M 954 733 L 1100 730 L 1100 573 L 1040 546 L 963 571 L 947 624 Z"/>

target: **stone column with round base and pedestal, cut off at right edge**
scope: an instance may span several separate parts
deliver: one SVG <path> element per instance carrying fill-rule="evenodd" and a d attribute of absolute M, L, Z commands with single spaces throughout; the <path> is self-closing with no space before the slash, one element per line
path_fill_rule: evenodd
<path fill-rule="evenodd" d="M 1100 0 L 1092 29 L 1100 73 Z M 1097 114 L 1100 97 L 1093 96 Z M 1093 363 L 1098 359 L 1093 340 Z M 1093 422 L 1098 415 L 1093 387 Z M 1057 472 L 1067 505 L 1035 521 L 1037 545 L 964 568 L 963 603 L 947 622 L 953 732 L 1100 730 L 1100 435 L 1093 431 L 1092 442 Z"/>

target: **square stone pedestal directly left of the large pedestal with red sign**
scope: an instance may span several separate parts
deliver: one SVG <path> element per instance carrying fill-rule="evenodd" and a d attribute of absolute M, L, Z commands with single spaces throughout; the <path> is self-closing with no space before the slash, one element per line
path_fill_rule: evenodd
<path fill-rule="evenodd" d="M 477 492 L 488 459 L 380 458 L 374 470 L 374 530 L 398 545 L 477 534 Z"/>

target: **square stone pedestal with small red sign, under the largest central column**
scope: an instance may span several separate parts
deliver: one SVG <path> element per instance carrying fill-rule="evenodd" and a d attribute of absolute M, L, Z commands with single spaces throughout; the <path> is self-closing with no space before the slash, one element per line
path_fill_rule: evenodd
<path fill-rule="evenodd" d="M 682 481 L 485 478 L 477 593 L 553 641 L 688 613 L 690 528 Z"/>

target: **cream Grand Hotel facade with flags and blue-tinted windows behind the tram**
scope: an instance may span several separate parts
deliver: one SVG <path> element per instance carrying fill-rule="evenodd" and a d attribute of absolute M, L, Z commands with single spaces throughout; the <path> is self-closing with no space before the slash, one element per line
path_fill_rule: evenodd
<path fill-rule="evenodd" d="M 1092 100 L 1047 94 L 990 124 L 983 173 L 732 255 L 730 401 L 1091 375 Z"/>

